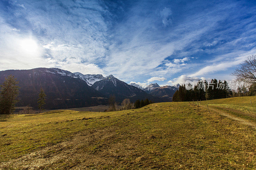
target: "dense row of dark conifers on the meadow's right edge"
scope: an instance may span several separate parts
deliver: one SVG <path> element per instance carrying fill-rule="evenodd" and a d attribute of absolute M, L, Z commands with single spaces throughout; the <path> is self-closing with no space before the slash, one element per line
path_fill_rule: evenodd
<path fill-rule="evenodd" d="M 191 86 L 191 84 L 188 84 Z M 186 89 L 185 84 L 181 85 L 174 93 L 172 101 L 200 101 L 214 100 L 232 97 L 232 91 L 226 80 L 224 82 L 212 79 L 211 82 L 198 81 L 197 84 L 190 90 Z"/>

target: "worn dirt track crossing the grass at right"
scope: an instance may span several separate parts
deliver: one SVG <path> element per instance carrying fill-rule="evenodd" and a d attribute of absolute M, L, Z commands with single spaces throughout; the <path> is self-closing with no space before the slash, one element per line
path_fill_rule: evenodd
<path fill-rule="evenodd" d="M 201 107 L 204 107 L 204 108 L 207 109 L 207 106 L 201 105 Z M 233 119 L 233 120 L 235 120 L 235 121 L 238 121 L 238 122 L 240 122 L 241 124 L 248 125 L 248 126 L 251 126 L 253 129 L 256 129 L 256 124 L 253 123 L 253 122 L 250 122 L 250 121 L 248 121 L 248 120 L 242 119 L 242 118 L 240 118 L 240 117 L 236 117 L 236 116 L 234 116 L 234 115 L 230 115 L 230 114 L 225 113 L 225 112 L 223 112 L 223 111 L 221 111 L 221 110 L 219 110 L 219 109 L 212 108 L 212 107 L 210 107 L 210 106 L 208 106 L 208 107 L 209 107 L 210 112 L 213 111 L 213 112 L 216 112 L 216 113 L 218 113 L 218 114 L 220 114 L 220 115 L 227 116 L 228 118 Z M 226 109 L 226 108 L 222 108 L 222 109 Z"/>

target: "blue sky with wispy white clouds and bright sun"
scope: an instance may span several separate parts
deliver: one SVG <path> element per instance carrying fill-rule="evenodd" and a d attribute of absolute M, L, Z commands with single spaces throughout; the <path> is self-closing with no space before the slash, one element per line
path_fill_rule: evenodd
<path fill-rule="evenodd" d="M 0 70 L 58 67 L 172 85 L 256 53 L 255 1 L 0 1 Z"/>

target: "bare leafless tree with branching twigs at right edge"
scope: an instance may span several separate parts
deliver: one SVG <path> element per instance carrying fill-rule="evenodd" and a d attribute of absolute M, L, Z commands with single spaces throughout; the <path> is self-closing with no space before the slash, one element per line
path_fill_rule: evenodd
<path fill-rule="evenodd" d="M 248 56 L 231 75 L 236 76 L 236 81 L 246 84 L 256 82 L 256 55 Z"/>

